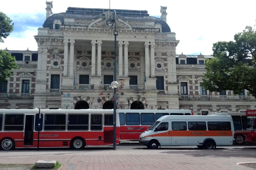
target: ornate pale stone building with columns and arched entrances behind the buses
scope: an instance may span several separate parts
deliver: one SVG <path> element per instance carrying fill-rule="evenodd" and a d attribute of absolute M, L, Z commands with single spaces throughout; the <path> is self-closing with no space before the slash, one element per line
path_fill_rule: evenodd
<path fill-rule="evenodd" d="M 114 28 L 106 21 L 113 10 L 67 8 L 38 28 L 38 51 L 12 51 L 19 66 L 1 82 L 3 109 L 113 108 Z M 255 108 L 247 91 L 209 92 L 200 83 L 205 55 L 176 55 L 179 41 L 161 18 L 147 11 L 116 10 L 118 109 L 191 109 L 246 111 Z"/>

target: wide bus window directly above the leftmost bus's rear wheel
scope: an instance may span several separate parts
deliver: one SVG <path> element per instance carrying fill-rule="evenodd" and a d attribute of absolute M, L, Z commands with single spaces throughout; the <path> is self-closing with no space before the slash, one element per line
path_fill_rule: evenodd
<path fill-rule="evenodd" d="M 89 115 L 88 114 L 68 114 L 67 130 L 68 131 L 88 131 Z"/>

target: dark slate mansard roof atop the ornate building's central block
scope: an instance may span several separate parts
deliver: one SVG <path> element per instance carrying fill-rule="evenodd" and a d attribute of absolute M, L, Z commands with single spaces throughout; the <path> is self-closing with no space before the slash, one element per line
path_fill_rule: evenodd
<path fill-rule="evenodd" d="M 75 18 L 75 19 L 98 19 L 103 12 L 109 9 L 98 9 L 98 8 L 74 8 L 68 7 L 66 12 L 53 14 L 45 20 L 43 24 L 44 28 L 53 29 L 53 21 L 55 19 L 61 20 L 64 23 L 64 18 Z M 111 11 L 113 11 L 111 9 Z M 146 10 L 115 10 L 116 15 L 121 16 L 123 20 L 128 21 L 154 21 L 155 24 L 159 23 L 162 25 L 162 32 L 171 32 L 168 24 L 160 18 L 151 17 Z"/>

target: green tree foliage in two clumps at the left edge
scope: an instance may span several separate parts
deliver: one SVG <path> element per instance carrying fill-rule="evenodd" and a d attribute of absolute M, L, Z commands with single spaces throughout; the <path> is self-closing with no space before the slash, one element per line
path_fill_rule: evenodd
<path fill-rule="evenodd" d="M 13 32 L 12 20 L 3 12 L 0 12 L 0 43 L 3 43 L 3 38 L 7 38 L 10 32 Z M 6 77 L 12 77 L 11 69 L 17 69 L 15 57 L 11 56 L 6 50 L 0 50 L 0 81 L 6 80 Z"/>

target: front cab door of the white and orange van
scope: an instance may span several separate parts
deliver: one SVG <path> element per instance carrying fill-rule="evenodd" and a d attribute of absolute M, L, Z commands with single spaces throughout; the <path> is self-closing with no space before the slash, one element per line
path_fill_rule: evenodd
<path fill-rule="evenodd" d="M 161 146 L 168 146 L 172 143 L 170 136 L 170 121 L 161 122 L 155 130 L 155 138 L 160 141 Z"/>

